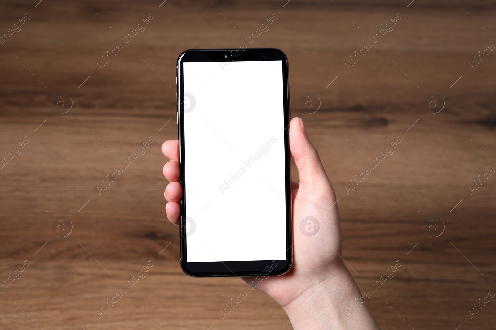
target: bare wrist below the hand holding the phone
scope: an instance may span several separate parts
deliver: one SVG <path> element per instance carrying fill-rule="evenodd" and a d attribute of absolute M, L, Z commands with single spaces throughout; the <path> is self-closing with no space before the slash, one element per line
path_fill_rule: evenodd
<path fill-rule="evenodd" d="M 325 279 L 310 281 L 308 289 L 286 305 L 296 329 L 379 329 L 344 264 Z M 334 328 L 333 328 L 334 327 Z"/>

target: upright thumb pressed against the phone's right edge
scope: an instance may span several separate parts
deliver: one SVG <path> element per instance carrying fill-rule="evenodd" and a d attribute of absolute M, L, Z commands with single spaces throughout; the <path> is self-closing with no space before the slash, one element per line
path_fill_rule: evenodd
<path fill-rule="evenodd" d="M 324 167 L 317 153 L 317 149 L 311 144 L 303 120 L 295 117 L 291 120 L 289 126 L 289 147 L 291 155 L 295 160 L 298 174 L 300 176 L 300 185 L 328 185 L 329 179 L 325 174 Z"/>

